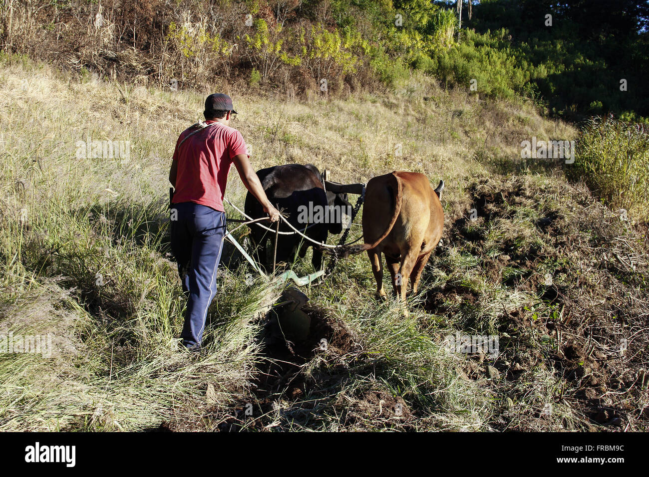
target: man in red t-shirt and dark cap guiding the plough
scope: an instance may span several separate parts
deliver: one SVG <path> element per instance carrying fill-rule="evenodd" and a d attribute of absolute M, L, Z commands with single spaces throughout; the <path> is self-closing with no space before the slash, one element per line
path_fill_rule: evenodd
<path fill-rule="evenodd" d="M 181 337 L 190 350 L 201 348 L 207 310 L 216 293 L 216 269 L 225 234 L 223 195 L 233 163 L 270 221 L 277 221 L 280 215 L 252 169 L 243 136 L 229 126 L 236 114 L 232 99 L 225 94 L 209 95 L 203 114 L 206 125 L 194 125 L 178 137 L 169 171 L 169 182 L 175 188 L 171 251 L 188 297 Z"/>

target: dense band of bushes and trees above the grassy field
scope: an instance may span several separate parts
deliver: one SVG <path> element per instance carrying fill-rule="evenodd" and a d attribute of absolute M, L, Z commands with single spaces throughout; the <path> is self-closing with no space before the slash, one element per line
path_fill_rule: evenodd
<path fill-rule="evenodd" d="M 567 119 L 649 116 L 646 2 L 16 0 L 0 16 L 6 53 L 106 77 L 331 94 L 392 88 L 417 69 Z"/>

